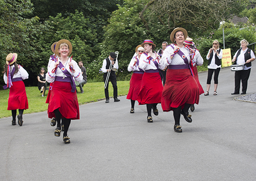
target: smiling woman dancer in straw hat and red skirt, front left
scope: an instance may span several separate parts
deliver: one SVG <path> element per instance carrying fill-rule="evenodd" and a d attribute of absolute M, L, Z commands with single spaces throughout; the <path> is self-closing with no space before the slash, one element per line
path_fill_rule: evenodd
<path fill-rule="evenodd" d="M 63 142 L 70 143 L 68 130 L 71 120 L 79 119 L 79 105 L 76 95 L 76 81 L 82 80 L 78 64 L 69 57 L 72 53 L 72 44 L 62 39 L 56 44 L 56 62 L 51 63 L 46 75 L 47 82 L 54 82 L 51 91 L 51 100 L 48 105 L 48 117 L 55 117 L 57 127 L 54 131 L 56 137 L 60 136 L 60 119 L 64 124 Z"/>

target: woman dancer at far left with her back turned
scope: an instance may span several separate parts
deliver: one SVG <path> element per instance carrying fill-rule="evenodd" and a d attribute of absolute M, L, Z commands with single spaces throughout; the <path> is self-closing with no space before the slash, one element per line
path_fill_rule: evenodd
<path fill-rule="evenodd" d="M 23 111 L 29 108 L 23 80 L 28 79 L 29 74 L 22 66 L 16 63 L 16 60 L 16 53 L 10 53 L 6 57 L 4 81 L 7 85 L 4 86 L 4 89 L 10 88 L 7 110 L 12 110 L 12 125 L 16 125 L 16 112 L 18 109 L 18 125 L 22 126 Z"/>

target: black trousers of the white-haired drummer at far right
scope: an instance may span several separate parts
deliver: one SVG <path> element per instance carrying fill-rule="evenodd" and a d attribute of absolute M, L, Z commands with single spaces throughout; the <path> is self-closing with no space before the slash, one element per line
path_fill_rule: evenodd
<path fill-rule="evenodd" d="M 235 93 L 239 93 L 241 81 L 242 81 L 242 93 L 246 93 L 250 72 L 251 72 L 251 69 L 236 71 L 234 73 L 234 92 Z"/>

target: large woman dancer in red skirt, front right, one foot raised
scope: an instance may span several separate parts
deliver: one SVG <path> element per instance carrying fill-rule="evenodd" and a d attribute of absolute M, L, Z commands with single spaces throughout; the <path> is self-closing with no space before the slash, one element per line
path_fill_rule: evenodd
<path fill-rule="evenodd" d="M 161 63 L 168 66 L 166 81 L 163 88 L 161 105 L 163 111 L 173 110 L 174 130 L 182 132 L 180 126 L 180 115 L 191 123 L 191 115 L 188 109 L 191 104 L 199 102 L 199 88 L 195 80 L 193 65 L 190 60 L 190 50 L 184 46 L 187 31 L 184 28 L 176 28 L 170 34 L 170 44 L 163 53 Z"/>

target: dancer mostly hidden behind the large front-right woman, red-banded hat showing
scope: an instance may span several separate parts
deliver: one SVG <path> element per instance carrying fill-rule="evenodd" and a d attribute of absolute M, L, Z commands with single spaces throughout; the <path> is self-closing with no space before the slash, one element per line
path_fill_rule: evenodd
<path fill-rule="evenodd" d="M 187 46 L 190 48 L 190 50 L 193 52 L 193 60 L 192 60 L 192 63 L 193 63 L 193 70 L 194 70 L 194 78 L 195 80 L 197 81 L 197 85 L 198 85 L 198 88 L 199 88 L 199 95 L 203 94 L 204 93 L 204 89 L 202 87 L 202 85 L 200 84 L 199 82 L 199 79 L 198 79 L 198 72 L 197 72 L 197 66 L 201 66 L 203 63 L 204 63 L 204 59 L 202 58 L 199 50 L 196 49 L 195 47 L 195 43 L 193 42 L 193 39 L 192 38 L 186 38 L 186 40 L 184 41 L 184 44 L 187 44 Z M 192 104 L 190 106 L 190 110 L 193 112 L 195 110 L 195 106 L 194 104 Z"/>

